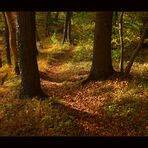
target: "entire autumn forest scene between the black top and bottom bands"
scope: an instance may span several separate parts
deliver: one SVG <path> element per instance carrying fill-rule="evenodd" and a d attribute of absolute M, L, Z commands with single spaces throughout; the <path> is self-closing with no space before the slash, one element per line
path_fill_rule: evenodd
<path fill-rule="evenodd" d="M 0 136 L 148 136 L 148 12 L 0 12 Z"/>

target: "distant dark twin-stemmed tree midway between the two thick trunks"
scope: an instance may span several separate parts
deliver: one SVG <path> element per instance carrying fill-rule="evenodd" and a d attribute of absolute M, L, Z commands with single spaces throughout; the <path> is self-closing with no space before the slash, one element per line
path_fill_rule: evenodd
<path fill-rule="evenodd" d="M 64 23 L 64 32 L 63 32 L 63 41 L 64 44 L 65 41 L 72 42 L 71 40 L 71 18 L 72 18 L 72 12 L 66 12 L 65 17 L 65 23 Z"/>

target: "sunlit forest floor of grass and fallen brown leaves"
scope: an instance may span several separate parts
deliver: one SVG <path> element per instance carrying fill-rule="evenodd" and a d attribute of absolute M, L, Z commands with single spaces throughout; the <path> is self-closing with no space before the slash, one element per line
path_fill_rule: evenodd
<path fill-rule="evenodd" d="M 91 62 L 74 61 L 75 48 L 40 49 L 45 100 L 20 100 L 19 76 L 12 67 L 0 69 L 8 72 L 0 86 L 0 136 L 148 136 L 148 61 L 130 78 L 81 85 Z"/>

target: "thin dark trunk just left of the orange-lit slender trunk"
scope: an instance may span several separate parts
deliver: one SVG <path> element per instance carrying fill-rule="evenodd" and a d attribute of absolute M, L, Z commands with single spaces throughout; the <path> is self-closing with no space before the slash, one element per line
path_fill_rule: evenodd
<path fill-rule="evenodd" d="M 9 30 L 8 30 L 8 25 L 7 25 L 7 20 L 5 17 L 5 14 L 3 14 L 4 18 L 4 24 L 5 24 L 5 51 L 6 51 L 6 58 L 7 58 L 7 64 L 11 65 L 11 57 L 10 57 L 10 44 L 9 44 Z"/>

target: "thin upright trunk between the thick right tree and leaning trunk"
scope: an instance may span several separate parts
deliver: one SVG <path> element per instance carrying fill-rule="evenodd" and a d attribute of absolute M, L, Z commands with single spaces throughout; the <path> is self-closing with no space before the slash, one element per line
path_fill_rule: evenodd
<path fill-rule="evenodd" d="M 121 58 L 120 58 L 120 72 L 123 74 L 123 62 L 124 62 L 124 42 L 123 42 L 123 14 L 124 12 L 121 12 L 120 15 L 120 21 L 119 21 L 119 35 L 120 35 L 120 47 L 121 47 Z"/>

